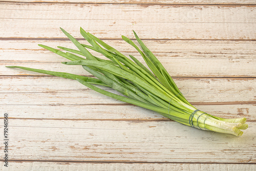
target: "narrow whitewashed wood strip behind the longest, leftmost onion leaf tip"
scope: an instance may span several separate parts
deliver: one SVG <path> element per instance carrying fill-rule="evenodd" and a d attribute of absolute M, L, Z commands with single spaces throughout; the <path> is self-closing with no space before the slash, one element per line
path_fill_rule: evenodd
<path fill-rule="evenodd" d="M 159 59 L 164 68 L 173 77 L 254 77 L 256 74 L 256 58 L 252 59 L 184 59 L 184 58 L 162 58 Z M 0 75 L 44 75 L 20 69 L 10 69 L 5 66 L 22 66 L 28 68 L 67 72 L 77 75 L 91 75 L 83 70 L 81 66 L 63 65 L 59 62 L 1 62 Z"/>

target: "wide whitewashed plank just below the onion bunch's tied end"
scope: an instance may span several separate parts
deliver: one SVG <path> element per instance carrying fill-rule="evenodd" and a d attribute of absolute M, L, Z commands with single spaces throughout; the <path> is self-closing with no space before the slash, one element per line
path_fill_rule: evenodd
<path fill-rule="evenodd" d="M 255 124 L 249 122 L 244 135 L 235 137 L 166 121 L 9 119 L 9 155 L 12 160 L 255 163 Z"/>

